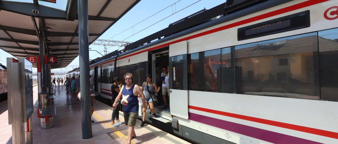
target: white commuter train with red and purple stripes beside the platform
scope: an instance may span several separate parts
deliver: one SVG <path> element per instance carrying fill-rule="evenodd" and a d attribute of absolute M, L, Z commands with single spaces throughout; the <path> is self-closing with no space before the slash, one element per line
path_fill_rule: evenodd
<path fill-rule="evenodd" d="M 90 73 L 111 105 L 113 77 L 161 86 L 168 66 L 169 108 L 158 93 L 160 117 L 148 109 L 146 121 L 195 143 L 338 143 L 337 24 L 337 0 L 227 0 L 91 61 Z"/>

